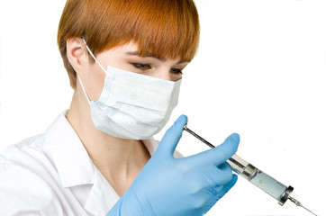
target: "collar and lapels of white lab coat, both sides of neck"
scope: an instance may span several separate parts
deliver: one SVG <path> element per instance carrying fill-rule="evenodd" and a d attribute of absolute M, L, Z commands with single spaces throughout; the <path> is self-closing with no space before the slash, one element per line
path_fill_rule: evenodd
<path fill-rule="evenodd" d="M 61 113 L 46 131 L 46 141 L 50 144 L 61 184 L 63 187 L 93 184 L 84 207 L 94 215 L 105 215 L 120 197 L 93 164 L 66 113 Z M 158 141 L 153 138 L 142 141 L 153 155 Z"/>

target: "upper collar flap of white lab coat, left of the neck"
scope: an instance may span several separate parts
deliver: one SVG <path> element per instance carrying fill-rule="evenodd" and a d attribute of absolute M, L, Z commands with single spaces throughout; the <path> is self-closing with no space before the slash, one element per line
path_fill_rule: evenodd
<path fill-rule="evenodd" d="M 94 184 L 95 166 L 63 112 L 46 131 L 46 141 L 63 187 Z"/>

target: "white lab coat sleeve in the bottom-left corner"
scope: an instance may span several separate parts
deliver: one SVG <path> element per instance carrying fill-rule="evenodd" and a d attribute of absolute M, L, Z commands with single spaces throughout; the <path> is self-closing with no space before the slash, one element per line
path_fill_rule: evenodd
<path fill-rule="evenodd" d="M 64 215 L 41 175 L 0 155 L 0 215 Z"/>

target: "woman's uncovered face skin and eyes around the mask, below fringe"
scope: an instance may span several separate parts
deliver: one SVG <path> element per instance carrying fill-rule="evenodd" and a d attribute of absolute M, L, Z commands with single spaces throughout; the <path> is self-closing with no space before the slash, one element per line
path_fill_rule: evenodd
<path fill-rule="evenodd" d="M 150 53 L 145 58 L 138 55 L 138 45 L 134 42 L 101 52 L 96 59 L 102 67 L 117 67 L 133 73 L 177 81 L 182 70 L 189 63 L 179 59 L 158 58 Z M 91 100 L 98 100 L 104 87 L 105 73 L 97 63 L 89 64 L 84 74 L 86 92 Z"/>

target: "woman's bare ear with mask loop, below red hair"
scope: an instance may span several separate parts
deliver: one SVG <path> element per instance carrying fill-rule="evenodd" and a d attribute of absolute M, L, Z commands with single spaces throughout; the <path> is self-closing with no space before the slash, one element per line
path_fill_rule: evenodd
<path fill-rule="evenodd" d="M 81 38 L 67 40 L 67 58 L 77 75 L 82 77 L 85 66 L 88 64 L 86 46 Z"/>

